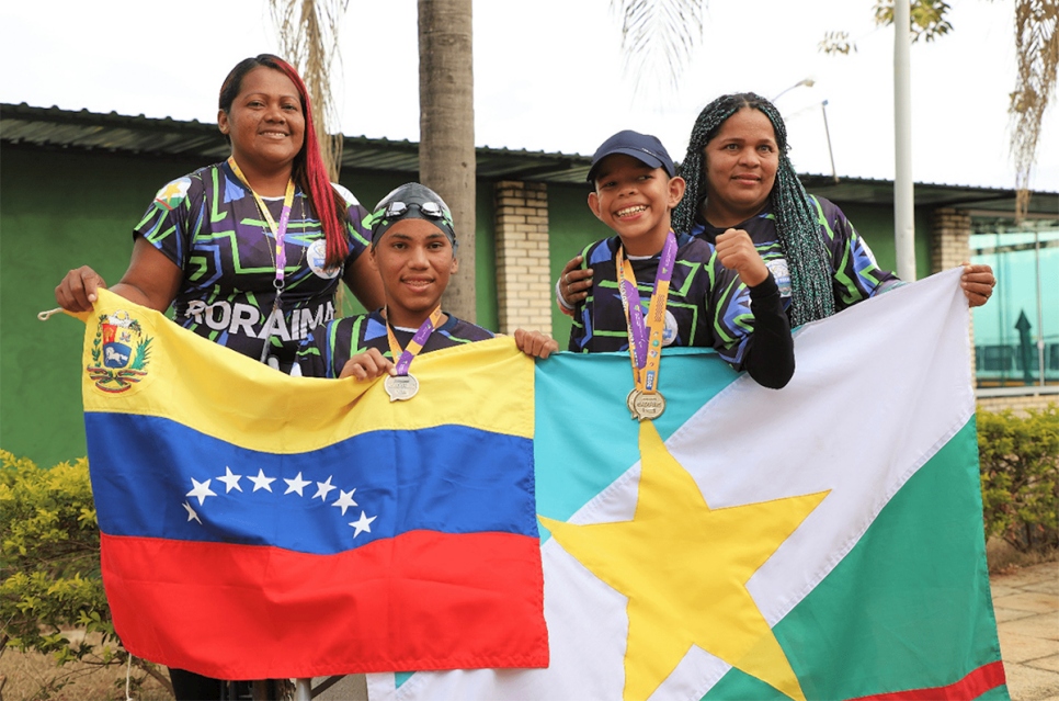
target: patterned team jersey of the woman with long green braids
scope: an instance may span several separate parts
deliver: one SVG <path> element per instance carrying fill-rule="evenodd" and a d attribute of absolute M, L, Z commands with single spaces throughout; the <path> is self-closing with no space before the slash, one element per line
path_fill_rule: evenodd
<path fill-rule="evenodd" d="M 817 219 L 820 223 L 820 237 L 823 239 L 833 271 L 832 285 L 836 312 L 867 299 L 890 283 L 900 282 L 897 275 L 879 268 L 867 241 L 861 238 L 842 210 L 829 200 L 816 195 L 809 195 L 809 201 L 816 210 Z M 779 285 L 783 308 L 789 312 L 790 270 L 776 231 L 776 215 L 772 213 L 772 204 L 770 203 L 760 214 L 730 228 L 743 229 L 750 235 L 754 247 L 772 271 L 776 284 Z M 701 236 L 713 244 L 717 240 L 717 236 L 726 230 L 727 228 L 710 226 L 698 218 L 692 227 L 692 235 Z"/>

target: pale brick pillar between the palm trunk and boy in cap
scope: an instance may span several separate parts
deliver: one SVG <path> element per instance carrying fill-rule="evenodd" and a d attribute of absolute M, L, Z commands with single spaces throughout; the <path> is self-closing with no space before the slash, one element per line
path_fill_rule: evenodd
<path fill-rule="evenodd" d="M 551 335 L 555 293 L 548 255 L 545 183 L 501 181 L 497 197 L 497 297 L 500 332 Z"/>

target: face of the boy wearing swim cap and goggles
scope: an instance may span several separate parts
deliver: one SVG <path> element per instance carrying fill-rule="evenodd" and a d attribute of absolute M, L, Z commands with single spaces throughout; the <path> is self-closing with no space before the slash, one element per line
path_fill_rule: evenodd
<path fill-rule="evenodd" d="M 458 263 L 448 237 L 426 219 L 401 219 L 372 249 L 394 326 L 417 328 L 441 302 Z"/>

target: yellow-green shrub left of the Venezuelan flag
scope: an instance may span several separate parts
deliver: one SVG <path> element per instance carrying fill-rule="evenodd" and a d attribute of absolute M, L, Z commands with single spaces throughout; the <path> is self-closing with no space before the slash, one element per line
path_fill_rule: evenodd
<path fill-rule="evenodd" d="M 0 450 L 0 621 L 5 647 L 50 655 L 57 667 L 124 665 L 100 576 L 100 531 L 88 461 L 41 470 Z M 71 642 L 70 630 L 87 633 Z M 133 664 L 169 687 L 146 660 Z M 143 678 L 140 678 L 141 680 Z M 60 674 L 41 696 L 60 689 Z"/>

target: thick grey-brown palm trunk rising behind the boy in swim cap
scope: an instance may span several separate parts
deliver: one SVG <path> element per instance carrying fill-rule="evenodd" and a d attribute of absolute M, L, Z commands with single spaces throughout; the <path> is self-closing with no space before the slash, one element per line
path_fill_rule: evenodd
<path fill-rule="evenodd" d="M 419 0 L 419 177 L 448 203 L 459 272 L 444 307 L 475 316 L 475 80 L 471 0 Z"/>

